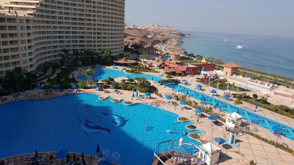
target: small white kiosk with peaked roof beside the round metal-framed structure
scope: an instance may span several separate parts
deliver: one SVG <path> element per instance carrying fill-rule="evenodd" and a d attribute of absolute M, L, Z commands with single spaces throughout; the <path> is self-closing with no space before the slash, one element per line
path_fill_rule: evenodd
<path fill-rule="evenodd" d="M 202 144 L 200 147 L 202 147 L 205 151 L 199 150 L 199 159 L 203 160 L 203 156 L 206 156 L 206 159 L 204 158 L 204 160 L 208 165 L 216 164 L 218 162 L 218 158 L 221 151 L 219 147 L 212 144 L 211 142 Z"/>

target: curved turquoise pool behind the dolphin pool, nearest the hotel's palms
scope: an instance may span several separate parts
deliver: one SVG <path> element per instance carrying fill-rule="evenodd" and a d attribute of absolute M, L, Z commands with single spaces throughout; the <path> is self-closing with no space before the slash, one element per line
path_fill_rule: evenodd
<path fill-rule="evenodd" d="M 127 75 L 133 79 L 135 77 L 145 77 L 147 80 L 152 80 L 153 78 L 153 81 L 164 80 L 164 78 L 161 78 L 156 75 L 126 73 L 125 71 L 121 71 L 121 69 L 108 69 L 108 68 L 96 69 L 95 73 L 92 74 L 92 77 L 97 78 L 98 76 L 100 76 L 101 79 L 99 80 L 104 80 L 104 79 L 107 79 L 108 76 L 111 78 L 113 78 L 113 76 L 115 76 L 116 78 L 119 78 L 119 77 L 126 77 Z M 87 80 L 87 77 L 85 75 L 80 75 L 78 76 L 78 78 L 81 80 Z"/>

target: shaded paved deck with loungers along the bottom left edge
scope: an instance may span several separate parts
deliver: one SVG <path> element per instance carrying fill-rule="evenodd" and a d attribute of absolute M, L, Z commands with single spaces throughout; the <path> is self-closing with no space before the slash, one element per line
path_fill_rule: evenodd
<path fill-rule="evenodd" d="M 49 158 L 50 155 L 54 156 L 57 154 L 57 152 L 38 152 L 39 155 L 41 155 L 43 158 Z M 69 152 L 70 155 L 73 155 L 73 152 Z M 76 156 L 81 158 L 81 153 L 76 153 Z M 13 165 L 23 165 L 24 164 L 24 159 L 26 159 L 27 157 L 35 157 L 35 153 L 29 153 L 29 154 L 22 154 L 22 155 L 16 155 L 16 156 L 11 156 L 11 157 L 6 157 L 6 158 L 1 158 L 0 160 L 4 160 L 4 164 L 5 165 L 11 165 L 11 163 Z M 86 161 L 87 165 L 97 165 L 97 163 L 99 163 L 102 159 L 98 159 L 98 157 L 96 156 L 92 156 L 92 160 L 91 160 L 91 155 L 84 155 L 84 159 Z M 66 158 L 63 159 L 63 161 L 66 161 Z M 82 162 L 80 160 L 80 162 Z M 51 164 L 53 165 L 61 165 L 62 163 L 62 159 L 57 159 L 54 158 L 53 162 Z"/>

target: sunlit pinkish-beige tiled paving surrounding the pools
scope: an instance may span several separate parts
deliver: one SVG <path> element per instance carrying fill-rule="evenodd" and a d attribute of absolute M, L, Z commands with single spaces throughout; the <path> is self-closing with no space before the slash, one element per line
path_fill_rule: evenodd
<path fill-rule="evenodd" d="M 112 68 L 112 67 L 106 67 L 106 68 Z M 120 68 L 119 68 L 120 69 Z M 148 74 L 148 73 L 147 73 Z M 162 77 L 161 73 L 152 73 L 153 75 L 158 75 L 160 77 Z M 76 75 L 76 74 L 75 74 Z M 186 79 L 188 80 L 188 83 L 191 84 L 187 87 L 190 87 L 193 89 L 193 87 L 195 87 L 198 82 L 196 81 L 196 78 L 201 77 L 200 75 L 198 76 L 193 76 L 193 77 L 179 77 L 178 79 Z M 125 79 L 125 78 L 115 78 L 116 82 L 120 82 L 121 79 Z M 172 92 L 171 88 L 168 87 L 162 87 L 159 86 L 157 83 L 151 83 L 151 85 L 154 85 L 158 88 L 158 93 L 170 93 Z M 210 95 L 210 91 L 212 89 L 216 89 L 213 87 L 209 87 L 207 85 L 203 85 L 203 90 L 201 92 Z M 124 99 L 129 101 L 130 99 L 132 99 L 132 94 L 133 92 L 131 91 L 126 91 L 126 90 L 120 90 L 123 94 L 121 95 L 117 95 L 116 93 L 104 93 L 101 91 L 95 91 L 94 89 L 87 89 L 85 90 L 88 93 L 96 93 L 101 95 L 102 97 L 114 97 L 115 99 Z M 220 91 L 218 89 L 216 89 L 216 91 Z M 38 90 L 30 90 L 29 91 L 31 94 L 33 94 L 33 97 L 24 97 L 21 98 L 19 100 L 22 99 L 39 99 L 39 94 L 38 94 Z M 43 90 L 40 90 L 41 95 L 40 98 L 50 98 L 51 94 L 49 93 L 49 95 L 44 95 Z M 224 91 L 222 91 L 224 92 Z M 228 92 L 232 92 L 232 91 L 228 91 Z M 59 96 L 59 95 L 64 95 L 65 93 L 74 93 L 74 92 L 68 92 L 68 90 L 65 90 L 65 92 L 53 92 L 53 96 Z M 141 93 L 143 95 L 143 93 Z M 223 95 L 223 93 L 218 93 L 221 96 Z M 176 107 L 171 106 L 171 105 L 167 105 L 165 102 L 166 100 L 163 98 L 160 98 L 158 96 L 156 96 L 155 94 L 151 94 L 152 99 L 139 99 L 139 98 L 134 98 L 134 100 L 131 100 L 131 102 L 133 103 L 137 103 L 137 102 L 143 102 L 143 103 L 147 103 L 147 104 L 152 104 L 152 105 L 157 105 L 158 107 L 164 108 L 166 110 L 169 110 L 171 112 L 175 112 L 177 114 L 179 114 L 180 116 L 186 117 L 194 122 L 197 121 L 197 117 L 195 116 L 195 112 L 193 112 L 193 108 L 187 106 L 187 109 L 181 110 L 181 107 L 178 105 Z M 222 98 L 222 97 L 220 97 Z M 189 98 L 191 100 L 193 100 L 194 98 Z M 236 105 L 233 102 L 234 98 L 230 98 L 231 101 L 229 101 L 230 103 Z M 198 101 L 196 99 L 194 99 L 195 101 Z M 10 99 L 5 100 L 5 101 L 1 101 L 2 102 L 9 102 L 12 101 Z M 199 101 L 198 101 L 199 102 Z M 209 105 L 208 105 L 209 106 Z M 243 107 L 245 109 L 249 109 L 249 108 L 255 108 L 255 105 L 252 105 L 250 103 L 247 102 L 243 102 L 242 105 L 237 105 L 240 107 Z M 294 119 L 291 119 L 289 117 L 285 117 L 282 116 L 280 114 L 271 112 L 269 110 L 263 109 L 258 107 L 258 111 L 256 112 L 260 115 L 269 117 L 273 120 L 282 122 L 284 124 L 287 124 L 289 126 L 294 127 Z M 205 113 L 204 113 L 205 114 Z M 227 115 L 228 113 L 225 112 L 223 115 Z M 205 114 L 208 115 L 208 114 Z M 221 114 L 220 114 L 221 115 Z M 223 139 L 227 139 L 229 137 L 228 132 L 225 131 L 225 125 L 223 123 L 222 126 L 215 126 L 215 125 L 211 125 L 211 121 L 209 119 L 205 118 L 199 118 L 199 123 L 196 124 L 197 129 L 201 129 L 204 131 L 204 134 L 200 135 L 200 141 L 202 143 L 205 142 L 214 142 L 214 138 L 215 137 L 221 137 Z M 254 131 L 254 133 L 259 134 L 262 137 L 265 137 L 267 139 L 272 139 L 272 140 L 276 140 L 277 137 L 268 134 L 268 130 L 264 129 L 258 125 L 252 124 L 250 123 L 250 130 Z M 237 137 L 237 140 L 240 142 L 240 146 L 238 147 L 228 147 L 226 145 L 220 145 L 219 147 L 222 148 L 223 151 L 223 156 L 220 157 L 219 159 L 219 164 L 220 165 L 245 165 L 248 164 L 248 162 L 250 160 L 254 160 L 255 163 L 258 164 L 270 164 L 270 165 L 275 165 L 275 164 L 293 164 L 294 165 L 294 156 L 291 155 L 290 153 L 283 151 L 281 149 L 275 148 L 274 146 L 267 144 L 265 142 L 262 142 L 250 135 L 243 135 L 243 136 L 239 136 Z M 294 148 L 294 141 L 288 138 L 285 138 L 283 136 L 281 136 L 278 139 L 278 142 L 283 143 L 285 145 L 287 145 L 290 148 Z M 215 142 L 214 142 L 215 143 Z M 217 143 L 215 143 L 216 145 L 218 145 Z M 97 163 L 96 163 L 97 164 Z"/>

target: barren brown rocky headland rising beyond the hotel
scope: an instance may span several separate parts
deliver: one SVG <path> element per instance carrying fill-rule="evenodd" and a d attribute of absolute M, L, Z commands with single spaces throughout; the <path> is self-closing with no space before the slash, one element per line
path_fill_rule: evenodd
<path fill-rule="evenodd" d="M 167 41 L 169 38 L 181 38 L 185 34 L 178 29 L 167 26 L 146 26 L 145 28 L 127 28 L 125 29 L 124 44 L 132 44 L 144 47 L 153 46 Z"/>

